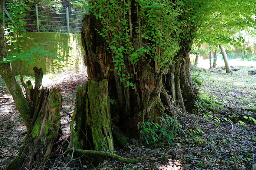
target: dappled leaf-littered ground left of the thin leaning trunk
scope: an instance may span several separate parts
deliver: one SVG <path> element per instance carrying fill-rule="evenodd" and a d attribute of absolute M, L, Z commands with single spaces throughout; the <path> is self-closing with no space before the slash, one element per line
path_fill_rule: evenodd
<path fill-rule="evenodd" d="M 17 156 L 26 130 L 12 96 L 3 87 L 0 91 L 0 169 Z"/>

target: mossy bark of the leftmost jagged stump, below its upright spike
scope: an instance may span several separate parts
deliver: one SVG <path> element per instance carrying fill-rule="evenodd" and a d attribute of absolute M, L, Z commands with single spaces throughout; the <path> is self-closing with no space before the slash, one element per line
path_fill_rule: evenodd
<path fill-rule="evenodd" d="M 27 133 L 18 156 L 6 167 L 6 170 L 30 169 L 44 166 L 49 158 L 53 143 L 58 136 L 60 126 L 61 89 L 42 89 L 38 100 L 43 101 L 40 112 L 30 133 Z"/>

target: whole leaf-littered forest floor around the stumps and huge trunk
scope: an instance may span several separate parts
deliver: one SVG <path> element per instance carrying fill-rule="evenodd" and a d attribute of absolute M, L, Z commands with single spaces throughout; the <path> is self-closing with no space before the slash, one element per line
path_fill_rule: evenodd
<path fill-rule="evenodd" d="M 125 164 L 104 159 L 96 163 L 86 157 L 86 164 L 81 164 L 84 157 L 74 157 L 70 162 L 74 167 L 64 167 L 67 153 L 62 143 L 57 142 L 46 169 L 251 170 L 256 163 L 256 112 L 246 108 L 256 107 L 256 75 L 248 72 L 256 68 L 237 68 L 239 71 L 234 74 L 225 74 L 221 68 L 193 68 L 193 79 L 199 85 L 201 96 L 225 106 L 215 105 L 217 110 L 207 114 L 181 112 L 178 120 L 183 131 L 176 134 L 173 145 L 166 145 L 161 140 L 158 144 L 149 145 L 143 140 L 132 140 L 124 148 L 115 148 L 115 154 L 125 158 L 142 158 L 141 162 Z M 68 137 L 76 89 L 83 84 L 86 76 L 62 73 L 45 77 L 44 86 L 50 84 L 63 89 L 61 127 L 63 135 Z M 17 156 L 25 132 L 26 127 L 12 96 L 0 78 L 0 169 Z"/>

